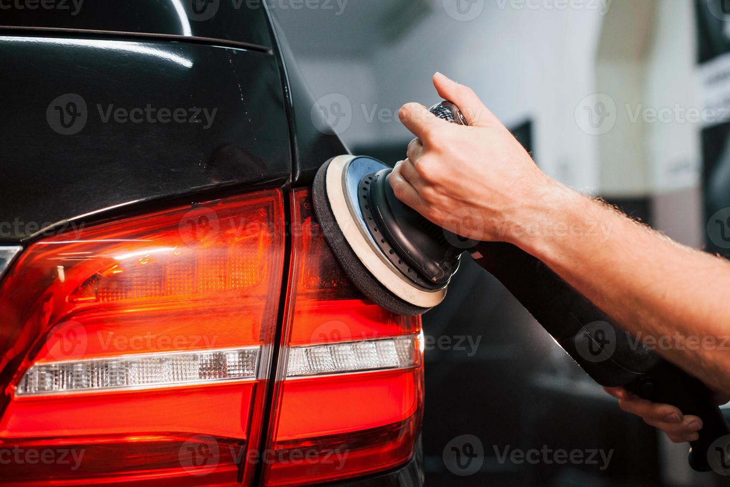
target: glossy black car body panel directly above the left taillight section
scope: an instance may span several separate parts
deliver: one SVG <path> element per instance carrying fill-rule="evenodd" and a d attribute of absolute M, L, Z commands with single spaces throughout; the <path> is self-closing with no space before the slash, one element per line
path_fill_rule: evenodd
<path fill-rule="evenodd" d="M 12 234 L 0 228 L 6 241 L 135 200 L 288 180 L 287 114 L 272 54 L 168 41 L 0 36 L 0 65 L 0 222 L 26 224 L 9 225 Z M 59 110 L 72 119 L 67 100 L 54 100 L 68 93 L 85 101 L 87 120 L 78 133 L 62 135 L 52 128 Z M 142 122 L 119 122 L 113 112 L 105 120 L 110 109 L 147 105 L 183 109 L 185 122 L 146 114 Z M 200 112 L 201 121 L 190 122 L 197 109 L 208 117 Z"/>

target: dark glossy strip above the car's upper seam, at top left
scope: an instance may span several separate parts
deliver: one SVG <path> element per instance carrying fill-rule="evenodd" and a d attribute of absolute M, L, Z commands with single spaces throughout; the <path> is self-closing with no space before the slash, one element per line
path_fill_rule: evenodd
<path fill-rule="evenodd" d="M 3 0 L 0 26 L 194 36 L 272 47 L 264 0 Z"/>

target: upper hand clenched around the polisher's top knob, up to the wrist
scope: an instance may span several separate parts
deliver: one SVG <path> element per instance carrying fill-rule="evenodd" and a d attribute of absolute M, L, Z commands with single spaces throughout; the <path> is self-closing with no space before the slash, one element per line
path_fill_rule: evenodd
<path fill-rule="evenodd" d="M 469 126 L 441 120 L 415 103 L 399 117 L 417 139 L 390 182 L 399 200 L 435 224 L 478 241 L 510 241 L 523 215 L 545 206 L 545 195 L 568 191 L 537 168 L 509 130 L 471 88 L 434 75 L 439 96 L 461 109 Z M 554 198 L 554 195 L 551 196 Z"/>

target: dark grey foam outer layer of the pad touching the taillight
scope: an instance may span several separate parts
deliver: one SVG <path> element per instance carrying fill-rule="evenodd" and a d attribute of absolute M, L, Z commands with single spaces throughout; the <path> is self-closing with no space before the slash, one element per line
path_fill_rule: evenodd
<path fill-rule="evenodd" d="M 345 270 L 345 274 L 355 284 L 355 287 L 375 304 L 393 313 L 406 316 L 426 313 L 431 308 L 421 308 L 420 306 L 412 305 L 388 291 L 383 284 L 380 284 L 374 278 L 360 259 L 358 259 L 350 244 L 347 244 L 345 235 L 342 234 L 342 230 L 339 230 L 337 221 L 334 219 L 334 214 L 332 214 L 330 202 L 327 198 L 326 174 L 331 161 L 332 159 L 324 163 L 315 175 L 315 179 L 312 182 L 312 203 L 314 204 L 315 215 L 320 223 L 324 238 L 327 244 L 329 244 L 330 249 L 332 249 L 332 253 L 337 259 L 337 262 Z"/>

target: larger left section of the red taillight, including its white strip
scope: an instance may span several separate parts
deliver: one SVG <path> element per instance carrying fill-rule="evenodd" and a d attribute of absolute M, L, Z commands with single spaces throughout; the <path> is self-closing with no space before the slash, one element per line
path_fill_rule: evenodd
<path fill-rule="evenodd" d="M 3 481 L 250 478 L 239 460 L 259 441 L 283 224 L 269 191 L 30 246 L 0 289 L 0 451 L 82 458 L 12 461 Z"/>

